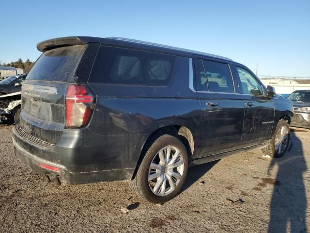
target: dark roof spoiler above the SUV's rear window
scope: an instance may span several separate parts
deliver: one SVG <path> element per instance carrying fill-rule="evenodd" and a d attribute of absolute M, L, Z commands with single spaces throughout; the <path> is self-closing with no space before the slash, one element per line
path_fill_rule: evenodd
<path fill-rule="evenodd" d="M 73 45 L 85 45 L 91 42 L 100 43 L 100 41 L 101 38 L 90 36 L 60 37 L 40 42 L 39 44 L 37 44 L 37 49 L 41 52 L 46 52 L 47 50 L 52 50 L 55 48 L 73 46 Z"/>

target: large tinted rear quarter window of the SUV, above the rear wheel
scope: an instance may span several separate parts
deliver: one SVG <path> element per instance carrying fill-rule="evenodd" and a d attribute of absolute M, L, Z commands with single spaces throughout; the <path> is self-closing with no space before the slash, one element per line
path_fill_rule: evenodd
<path fill-rule="evenodd" d="M 175 60 L 167 54 L 102 46 L 89 82 L 166 86 Z"/>

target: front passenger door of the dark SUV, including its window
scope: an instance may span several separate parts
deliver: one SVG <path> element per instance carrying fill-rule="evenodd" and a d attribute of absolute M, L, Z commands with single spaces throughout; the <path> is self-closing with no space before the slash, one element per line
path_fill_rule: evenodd
<path fill-rule="evenodd" d="M 243 93 L 245 106 L 243 142 L 245 144 L 262 143 L 269 138 L 272 131 L 274 101 L 267 98 L 263 84 L 247 67 L 236 65 L 234 71 Z"/>

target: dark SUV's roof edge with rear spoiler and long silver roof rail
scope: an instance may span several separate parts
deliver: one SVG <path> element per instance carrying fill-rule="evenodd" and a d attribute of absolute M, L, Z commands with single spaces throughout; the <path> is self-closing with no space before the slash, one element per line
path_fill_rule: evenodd
<path fill-rule="evenodd" d="M 140 49 L 148 49 L 148 50 L 154 50 L 154 51 L 159 50 L 162 52 L 169 52 L 169 53 L 172 52 L 175 54 L 187 55 L 187 56 L 196 54 L 196 55 L 209 56 L 213 58 L 232 61 L 232 59 L 230 58 L 222 57 L 222 56 L 218 56 L 218 55 L 214 55 L 210 53 L 181 49 L 177 47 L 155 44 L 155 43 L 140 41 L 140 40 L 133 40 L 133 39 L 128 39 L 128 38 L 122 38 L 122 37 L 106 37 L 106 38 L 89 37 L 89 36 L 60 37 L 60 38 L 55 38 L 55 39 L 50 39 L 50 40 L 40 42 L 39 44 L 37 44 L 37 49 L 41 52 L 45 52 L 47 50 L 51 50 L 54 48 L 72 46 L 72 45 L 83 45 L 83 44 L 88 44 L 88 43 L 101 43 L 101 44 L 111 45 L 111 46 L 120 45 L 124 47 L 129 47 L 129 48 L 140 48 Z"/>

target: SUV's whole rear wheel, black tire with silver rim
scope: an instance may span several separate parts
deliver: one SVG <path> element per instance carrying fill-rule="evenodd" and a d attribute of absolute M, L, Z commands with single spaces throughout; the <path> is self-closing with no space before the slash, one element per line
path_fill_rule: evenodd
<path fill-rule="evenodd" d="M 130 181 L 132 190 L 140 198 L 153 203 L 164 203 L 173 199 L 186 180 L 188 171 L 186 147 L 177 137 L 164 134 L 151 140 L 144 151 L 146 152 L 136 176 Z M 173 161 L 174 155 L 175 161 Z M 173 166 L 177 167 L 172 168 Z M 153 177 L 154 179 L 149 181 L 149 178 Z"/>

